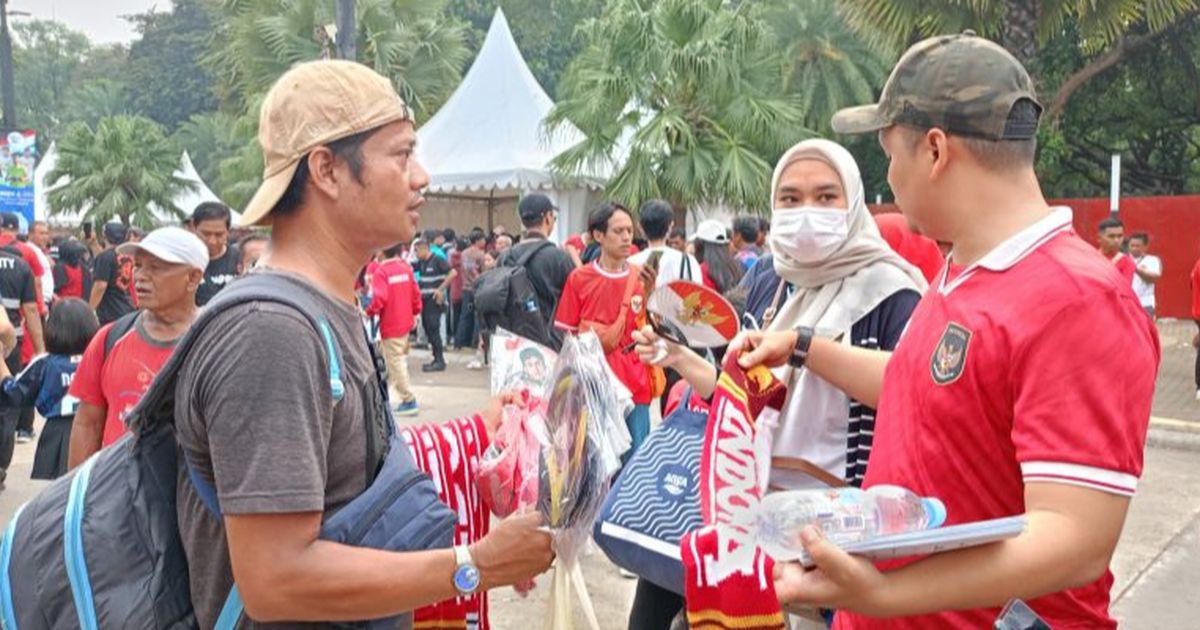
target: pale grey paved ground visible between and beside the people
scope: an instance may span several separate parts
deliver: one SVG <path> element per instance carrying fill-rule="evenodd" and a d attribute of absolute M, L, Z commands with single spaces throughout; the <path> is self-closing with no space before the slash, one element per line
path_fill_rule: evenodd
<path fill-rule="evenodd" d="M 1166 323 L 1162 328 L 1164 365 L 1154 413 L 1189 424 L 1200 422 L 1200 403 L 1194 400 L 1190 384 L 1193 355 L 1189 348 L 1177 347 L 1190 341 L 1183 338 L 1186 326 Z M 455 418 L 486 403 L 487 372 L 466 370 L 469 355 L 449 354 L 450 368 L 438 374 L 420 371 L 420 361 L 427 360 L 420 355 L 418 353 L 412 360 L 412 376 L 421 413 L 412 421 Z M 1159 432 L 1164 433 L 1168 432 Z M 1114 611 L 1126 628 L 1200 628 L 1196 622 L 1200 589 L 1195 586 L 1200 583 L 1200 484 L 1196 482 L 1200 436 L 1192 438 L 1195 439 L 1152 439 L 1147 448 L 1146 472 L 1112 558 Z M 1159 444 L 1182 444 L 1190 450 Z M 0 523 L 44 485 L 29 480 L 32 455 L 32 444 L 17 446 L 7 490 L 0 493 Z M 582 564 L 602 630 L 623 630 L 635 582 L 620 577 L 598 551 L 584 557 Z M 542 576 L 538 582 L 538 588 L 527 598 L 511 589 L 492 595 L 493 628 L 510 630 L 530 622 L 540 624 L 548 596 L 548 577 Z M 576 623 L 586 628 L 578 612 Z"/>

